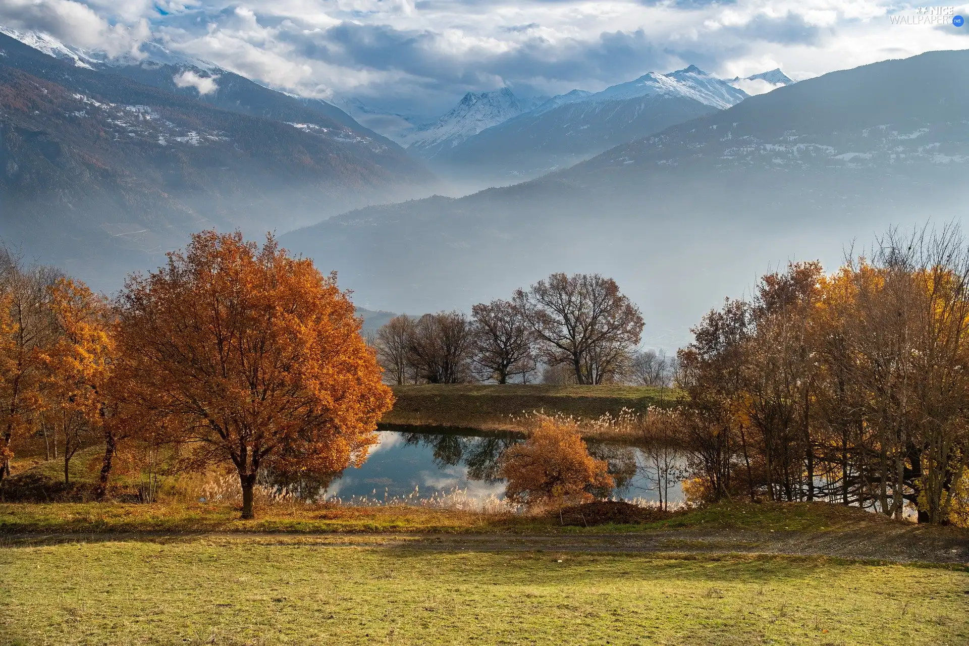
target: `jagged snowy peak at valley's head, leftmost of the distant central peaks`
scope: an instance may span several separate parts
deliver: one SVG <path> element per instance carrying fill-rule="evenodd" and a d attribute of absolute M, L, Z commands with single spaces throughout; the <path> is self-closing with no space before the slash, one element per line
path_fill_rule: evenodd
<path fill-rule="evenodd" d="M 507 87 L 492 92 L 468 92 L 447 114 L 408 137 L 407 149 L 425 159 L 433 158 L 485 128 L 521 114 L 528 107 Z"/>

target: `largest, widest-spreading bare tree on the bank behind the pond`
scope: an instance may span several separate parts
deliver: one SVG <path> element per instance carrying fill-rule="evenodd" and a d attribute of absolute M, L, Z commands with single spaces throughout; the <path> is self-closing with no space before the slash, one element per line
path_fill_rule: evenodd
<path fill-rule="evenodd" d="M 608 381 L 640 343 L 640 310 L 611 278 L 556 273 L 515 297 L 525 305 L 543 362 L 571 365 L 578 384 Z"/>

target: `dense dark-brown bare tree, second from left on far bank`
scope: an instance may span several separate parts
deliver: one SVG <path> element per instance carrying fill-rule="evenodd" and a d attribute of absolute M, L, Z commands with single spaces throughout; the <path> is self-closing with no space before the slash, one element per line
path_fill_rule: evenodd
<path fill-rule="evenodd" d="M 430 384 L 468 382 L 473 343 L 473 328 L 463 313 L 425 314 L 414 325 L 408 362 Z"/>

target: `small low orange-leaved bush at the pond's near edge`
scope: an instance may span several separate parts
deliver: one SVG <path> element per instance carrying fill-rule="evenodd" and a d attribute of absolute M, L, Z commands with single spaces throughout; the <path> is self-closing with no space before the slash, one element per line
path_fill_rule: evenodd
<path fill-rule="evenodd" d="M 502 453 L 498 475 L 508 480 L 512 502 L 561 506 L 592 500 L 589 489 L 614 486 L 608 468 L 589 455 L 574 422 L 540 416 L 527 440 Z"/>

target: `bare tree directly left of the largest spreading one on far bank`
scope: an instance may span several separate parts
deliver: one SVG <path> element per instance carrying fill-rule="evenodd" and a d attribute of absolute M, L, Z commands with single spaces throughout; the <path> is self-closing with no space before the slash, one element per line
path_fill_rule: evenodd
<path fill-rule="evenodd" d="M 535 370 L 534 334 L 518 301 L 492 300 L 471 308 L 474 361 L 485 379 L 507 384 Z"/>

